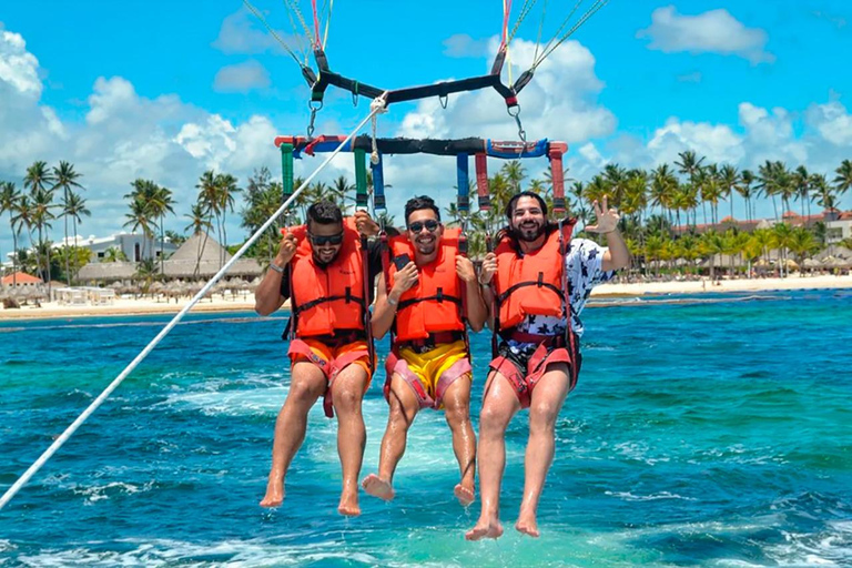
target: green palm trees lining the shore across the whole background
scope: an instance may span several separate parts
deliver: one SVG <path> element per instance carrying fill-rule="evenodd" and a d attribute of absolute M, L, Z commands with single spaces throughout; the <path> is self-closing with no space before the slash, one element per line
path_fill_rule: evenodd
<path fill-rule="evenodd" d="M 729 164 L 707 163 L 704 158 L 692 151 L 679 154 L 672 165 L 661 164 L 653 170 L 625 169 L 618 164 L 608 164 L 588 182 L 571 180 L 568 171 L 566 179 L 566 197 L 569 210 L 585 224 L 591 222 L 589 204 L 609 195 L 613 206 L 622 213 L 622 230 L 638 247 L 645 250 L 651 245 L 655 257 L 659 240 L 672 242 L 681 236 L 696 232 L 701 221 L 714 229 L 720 229 L 720 206 L 727 202 L 730 216 L 733 217 L 734 197 L 742 200 L 747 220 L 754 219 L 754 203 L 759 199 L 768 199 L 773 203 L 775 221 L 779 222 L 778 202 L 782 211 L 791 210 L 791 202 L 801 203 L 801 213 L 810 217 L 811 205 L 816 204 L 823 210 L 835 210 L 842 195 L 852 187 L 852 162 L 844 160 L 834 171 L 833 178 L 825 174 L 809 172 L 804 166 L 789 169 L 784 163 L 767 161 L 758 168 L 757 173 L 750 170 L 739 171 Z M 34 162 L 27 170 L 23 186 L 28 192 L 17 190 L 14 183 L 3 182 L 0 185 L 0 214 L 8 212 L 12 229 L 13 247 L 18 251 L 18 239 L 26 229 L 30 245 L 37 257 L 38 272 L 50 280 L 51 262 L 50 246 L 45 246 L 47 235 L 52 229 L 52 221 L 58 216 L 64 221 L 65 244 L 68 243 L 69 221 L 77 234 L 77 224 L 82 215 L 90 215 L 83 200 L 74 190 L 81 190 L 81 175 L 69 162 L 60 162 L 58 166 L 48 168 L 45 162 Z M 372 195 L 372 180 L 368 180 L 368 191 Z M 294 181 L 293 190 L 303 184 L 303 180 Z M 471 187 L 475 183 L 471 182 Z M 148 239 L 153 239 L 159 232 L 161 242 L 160 273 L 163 272 L 164 260 L 162 243 L 166 234 L 166 215 L 174 215 L 176 205 L 171 190 L 151 180 L 138 179 L 131 183 L 131 192 L 124 197 L 129 200 L 129 213 L 125 214 L 124 226 L 132 231 L 141 230 Z M 215 229 L 223 250 L 227 247 L 227 214 L 234 211 L 236 197 L 243 190 L 235 176 L 229 173 L 217 173 L 213 170 L 204 172 L 196 185 L 197 197 L 185 215 L 190 223 L 184 231 L 191 234 L 206 234 Z M 388 186 L 389 187 L 389 186 Z M 60 203 L 54 203 L 57 190 L 62 190 Z M 354 205 L 354 185 L 339 176 L 333 183 L 317 182 L 307 186 L 296 196 L 293 207 L 284 220 L 285 223 L 303 222 L 311 203 L 318 199 L 329 199 L 336 202 L 344 212 L 349 212 Z M 446 216 L 452 222 L 464 223 L 470 235 L 471 254 L 481 254 L 487 244 L 488 235 L 504 223 L 503 211 L 509 199 L 527 189 L 544 195 L 552 204 L 552 183 L 550 173 L 541 179 L 527 180 L 526 170 L 520 161 L 505 162 L 501 169 L 489 178 L 488 194 L 490 207 L 474 212 L 462 212 L 455 203 L 446 207 Z M 292 193 L 292 190 L 291 190 Z M 266 219 L 281 206 L 285 192 L 280 181 L 273 180 L 265 168 L 255 171 L 248 178 L 244 191 L 244 206 L 241 210 L 241 225 L 254 232 Z M 393 223 L 393 217 L 386 215 L 383 221 Z M 666 233 L 661 231 L 666 231 Z M 172 236 L 176 235 L 170 232 Z M 819 235 L 815 236 L 819 239 Z M 741 239 L 742 240 L 742 239 Z M 649 242 L 650 241 L 650 242 Z M 278 235 L 270 230 L 250 252 L 258 258 L 271 258 L 277 246 Z M 689 241 L 687 241 L 689 242 Z M 205 241 L 200 244 L 199 260 L 203 255 Z M 787 248 L 790 248 L 789 246 Z M 223 253 L 224 254 L 224 253 Z M 13 255 L 13 262 L 19 255 Z M 43 258 L 42 258 L 43 256 Z M 72 277 L 71 260 L 73 254 L 64 254 L 64 275 L 69 283 Z M 143 244 L 144 256 L 144 244 Z M 220 257 L 224 264 L 224 257 Z"/>

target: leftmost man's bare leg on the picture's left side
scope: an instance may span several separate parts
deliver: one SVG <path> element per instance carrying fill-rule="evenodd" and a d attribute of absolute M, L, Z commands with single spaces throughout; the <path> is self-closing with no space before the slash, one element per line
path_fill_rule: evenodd
<path fill-rule="evenodd" d="M 325 392 L 325 375 L 307 362 L 291 367 L 287 398 L 275 420 L 275 440 L 272 444 L 272 468 L 262 507 L 277 507 L 284 501 L 284 477 L 293 456 L 305 440 L 307 412 Z"/>

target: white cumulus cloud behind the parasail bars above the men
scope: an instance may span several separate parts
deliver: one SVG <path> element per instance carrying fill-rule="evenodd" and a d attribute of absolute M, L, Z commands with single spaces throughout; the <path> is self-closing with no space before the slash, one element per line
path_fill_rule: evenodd
<path fill-rule="evenodd" d="M 496 38 L 488 40 L 488 57 L 483 59 L 483 72 L 487 72 L 497 47 Z M 510 51 L 513 78 L 516 79 L 530 67 L 535 43 L 515 40 Z M 504 82 L 508 82 L 507 71 L 504 70 Z M 520 118 L 527 139 L 547 136 L 579 146 L 590 139 L 610 135 L 617 121 L 612 112 L 597 100 L 602 89 L 604 83 L 595 74 L 595 57 L 591 52 L 576 41 L 565 42 L 541 63 L 532 82 L 520 93 Z M 435 99 L 419 101 L 417 108 L 403 118 L 399 128 L 392 134 L 409 138 L 477 136 L 517 140 L 518 128 L 506 113 L 500 95 L 493 89 L 485 89 L 450 94 L 446 109 Z M 569 165 L 571 160 L 576 162 L 571 168 L 590 168 L 590 160 L 600 162 L 602 159 L 592 149 L 587 148 L 584 153 L 569 158 Z M 496 170 L 499 165 L 500 162 L 494 161 L 489 168 Z M 540 175 L 547 163 L 545 160 L 526 161 L 524 165 L 532 176 Z M 437 191 L 443 199 L 452 199 L 452 187 L 456 183 L 455 162 L 452 160 L 394 158 L 388 160 L 386 168 L 388 182 L 406 187 L 406 194 Z M 395 206 L 393 199 L 388 193 L 389 203 Z"/>

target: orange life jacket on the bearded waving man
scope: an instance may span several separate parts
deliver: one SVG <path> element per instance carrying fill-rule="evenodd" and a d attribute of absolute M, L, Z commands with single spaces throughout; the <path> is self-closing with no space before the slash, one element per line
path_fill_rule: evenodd
<path fill-rule="evenodd" d="M 545 244 L 531 253 L 518 254 L 513 240 L 505 236 L 495 248 L 497 274 L 495 292 L 499 331 L 517 326 L 527 315 L 565 316 L 565 251 L 571 240 L 574 223 L 551 232 Z"/>

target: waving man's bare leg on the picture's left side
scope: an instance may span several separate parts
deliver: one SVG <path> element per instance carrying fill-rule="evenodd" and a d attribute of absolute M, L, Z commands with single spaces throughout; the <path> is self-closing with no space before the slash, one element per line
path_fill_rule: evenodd
<path fill-rule="evenodd" d="M 518 396 L 509 381 L 497 372 L 488 375 L 487 396 L 479 415 L 479 493 L 481 513 L 476 526 L 465 538 L 498 538 L 500 525 L 500 484 L 506 467 L 506 427 L 520 409 Z"/>

